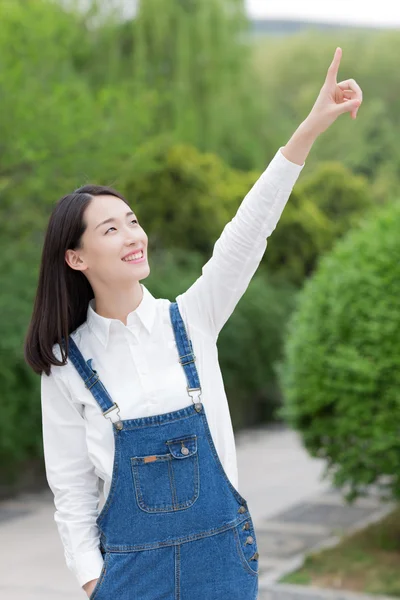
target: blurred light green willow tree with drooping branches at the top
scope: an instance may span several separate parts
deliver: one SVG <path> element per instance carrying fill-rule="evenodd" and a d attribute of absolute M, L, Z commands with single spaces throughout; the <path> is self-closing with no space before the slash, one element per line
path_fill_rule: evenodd
<path fill-rule="evenodd" d="M 158 130 L 241 168 L 261 152 L 248 31 L 243 0 L 145 0 L 132 21 L 133 78 L 163 99 Z"/>

